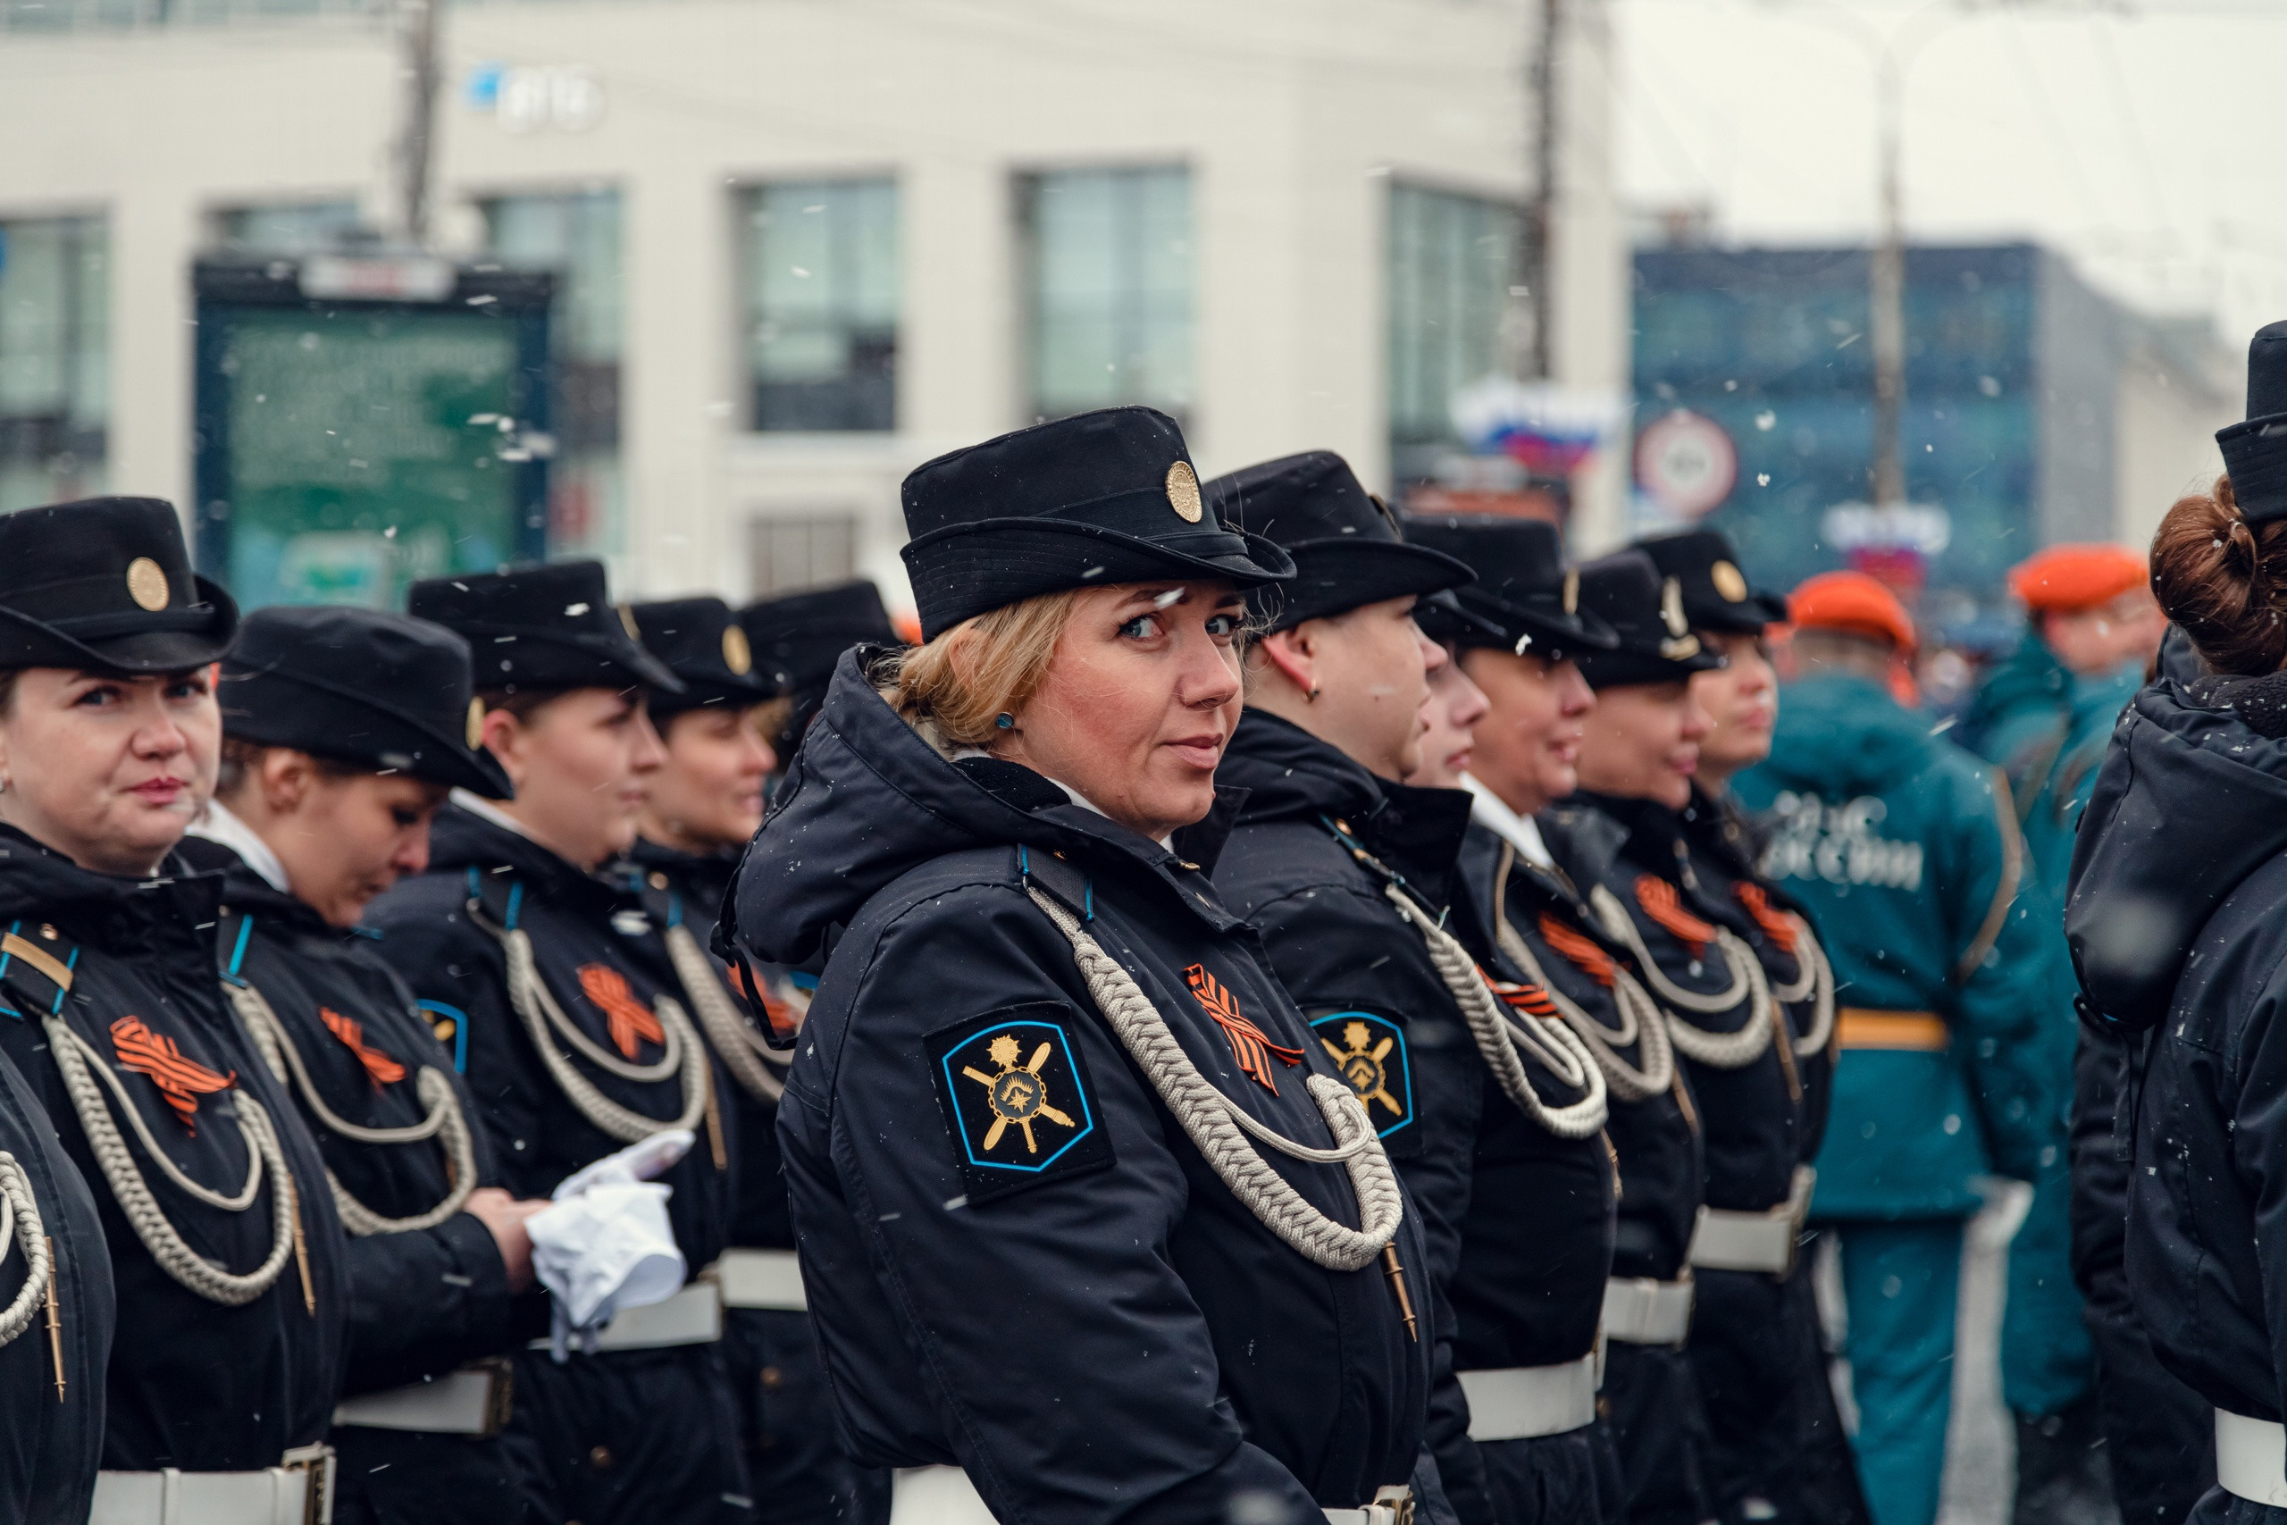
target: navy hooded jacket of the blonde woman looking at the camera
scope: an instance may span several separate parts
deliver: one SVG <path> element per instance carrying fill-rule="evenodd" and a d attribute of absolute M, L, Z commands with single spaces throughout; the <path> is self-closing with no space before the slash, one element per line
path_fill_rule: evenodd
<path fill-rule="evenodd" d="M 1219 837 L 1210 816 L 1169 853 L 1015 764 L 949 764 L 842 658 L 736 903 L 764 960 L 832 949 L 778 1127 L 860 1466 L 956 1463 L 999 1518 L 1137 1525 L 1317 1520 L 1413 1475 L 1411 1207 L 1418 1340 L 1379 1262 L 1322 1269 L 1224 1187 L 1027 894 L 1086 917 L 1233 1107 L 1324 1148 L 1304 1081 L 1333 1065 L 1208 883 Z M 1340 1166 L 1260 1148 L 1358 1223 Z"/>

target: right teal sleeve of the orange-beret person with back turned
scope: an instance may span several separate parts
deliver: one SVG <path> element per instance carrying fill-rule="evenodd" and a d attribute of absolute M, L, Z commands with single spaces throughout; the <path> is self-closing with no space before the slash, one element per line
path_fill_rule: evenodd
<path fill-rule="evenodd" d="M 1939 905 L 1953 917 L 1951 976 L 1958 1040 L 1985 1123 L 1994 1171 L 2038 1180 L 2063 1155 L 2070 1075 L 2056 1008 L 2061 912 L 2040 889 L 2017 816 L 1987 768 L 1953 787 L 1958 821 L 1939 862 Z"/>

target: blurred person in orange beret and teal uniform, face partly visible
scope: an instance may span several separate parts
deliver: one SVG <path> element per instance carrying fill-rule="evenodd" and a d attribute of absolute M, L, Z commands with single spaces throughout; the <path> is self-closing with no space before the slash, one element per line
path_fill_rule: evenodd
<path fill-rule="evenodd" d="M 2061 908 L 2074 825 L 2113 722 L 2159 652 L 2166 617 L 2152 599 L 2145 558 L 2118 544 L 2049 546 L 2010 567 L 2008 581 L 2026 606 L 2026 631 L 1978 688 L 1962 718 L 1962 745 L 2008 775 L 2031 871 Z M 2054 931 L 2056 1020 L 2045 1038 L 2065 1075 L 2079 1022 L 2065 1020 L 2074 979 L 2063 926 Z M 2111 1493 L 2097 1450 L 2097 1356 L 2072 1278 L 2070 1203 L 2070 1164 L 2058 1159 L 2033 1184 L 2008 1251 L 2001 1397 L 2017 1418 L 2017 1525 L 2088 1518 Z M 2134 1363 L 2134 1333 L 2122 1331 L 2122 1340 L 2111 1340 L 2113 1358 Z M 2166 1392 L 2154 1383 L 2154 1397 Z M 2127 1454 L 2134 1466 L 2136 1450 Z"/>

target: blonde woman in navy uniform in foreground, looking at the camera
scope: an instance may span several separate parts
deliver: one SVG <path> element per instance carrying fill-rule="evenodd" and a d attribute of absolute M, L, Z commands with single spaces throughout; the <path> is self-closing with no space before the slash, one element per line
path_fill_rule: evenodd
<path fill-rule="evenodd" d="M 1141 407 L 903 498 L 924 645 L 844 656 L 727 912 L 828 953 L 778 1127 L 844 1450 L 899 1520 L 1402 1518 L 1416 1214 L 1208 880 L 1290 562 Z"/>

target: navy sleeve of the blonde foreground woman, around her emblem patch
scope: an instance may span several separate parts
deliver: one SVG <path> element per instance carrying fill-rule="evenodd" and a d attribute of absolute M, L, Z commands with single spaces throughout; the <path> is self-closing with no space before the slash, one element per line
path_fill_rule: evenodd
<path fill-rule="evenodd" d="M 1219 1392 L 1217 1349 L 1171 1246 L 1189 1177 L 1155 1097 L 1093 1011 L 1070 944 L 1029 901 L 995 887 L 965 892 L 958 912 L 906 912 L 871 947 L 844 944 L 837 965 L 853 953 L 862 969 L 839 1033 L 823 1040 L 835 1047 L 821 1063 L 810 1052 L 796 1063 L 782 1120 L 796 1212 L 805 1198 L 816 1212 L 800 1187 L 816 1161 L 794 1155 L 803 1111 L 819 1104 L 805 1088 L 830 1088 L 830 1212 L 855 1223 L 880 1283 L 878 1303 L 869 1292 L 846 1306 L 812 1294 L 828 1367 L 855 1388 L 846 1413 L 924 1397 L 931 1427 L 999 1518 L 1189 1523 L 1224 1518 L 1244 1495 L 1249 1518 L 1322 1520 L 1301 1482 L 1246 1443 Z M 830 1011 L 826 988 L 821 1006 Z M 1052 1166 L 972 1200 L 929 1043 L 997 1013 L 1063 1031 L 1109 1166 Z M 1045 1100 L 1070 1116 L 1075 1097 Z M 803 1239 L 810 1280 L 810 1225 Z M 860 1317 L 864 1306 L 897 1324 L 922 1395 L 887 1390 L 883 1372 L 903 1360 L 880 1358 L 851 1381 L 878 1356 L 864 1347 L 885 1335 Z M 1091 1395 L 1086 1406 L 1059 1399 L 1077 1390 Z"/>

